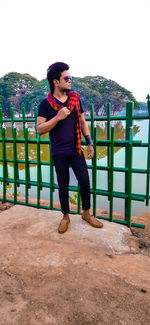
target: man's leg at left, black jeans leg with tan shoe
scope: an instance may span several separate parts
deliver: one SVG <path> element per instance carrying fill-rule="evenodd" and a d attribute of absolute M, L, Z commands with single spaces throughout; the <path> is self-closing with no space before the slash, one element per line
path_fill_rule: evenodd
<path fill-rule="evenodd" d="M 54 166 L 57 175 L 57 181 L 59 185 L 59 200 L 61 210 L 63 213 L 63 219 L 59 225 L 58 231 L 64 233 L 68 229 L 70 222 L 69 219 L 69 162 L 68 156 L 58 154 L 53 157 Z"/>

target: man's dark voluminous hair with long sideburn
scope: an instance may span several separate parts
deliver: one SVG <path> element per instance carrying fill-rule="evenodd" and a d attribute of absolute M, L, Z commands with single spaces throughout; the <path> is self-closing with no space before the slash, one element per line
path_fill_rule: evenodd
<path fill-rule="evenodd" d="M 64 62 L 56 62 L 51 64 L 47 69 L 47 80 L 50 85 L 51 93 L 54 92 L 53 80 L 60 79 L 61 73 L 65 70 L 69 70 L 69 65 Z"/>

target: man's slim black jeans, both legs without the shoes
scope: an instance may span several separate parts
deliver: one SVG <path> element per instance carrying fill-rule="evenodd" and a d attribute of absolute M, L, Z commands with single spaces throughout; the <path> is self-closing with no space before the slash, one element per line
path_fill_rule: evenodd
<path fill-rule="evenodd" d="M 59 185 L 59 199 L 62 213 L 69 212 L 69 166 L 72 167 L 80 184 L 80 193 L 83 210 L 90 209 L 90 182 L 87 164 L 82 153 L 57 154 L 53 156 L 54 166 Z"/>

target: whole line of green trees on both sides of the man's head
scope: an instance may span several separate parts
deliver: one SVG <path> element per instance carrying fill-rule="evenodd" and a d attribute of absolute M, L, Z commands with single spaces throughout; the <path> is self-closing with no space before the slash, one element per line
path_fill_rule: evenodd
<path fill-rule="evenodd" d="M 121 111 L 128 101 L 134 101 L 135 108 L 139 107 L 129 90 L 101 76 L 73 77 L 72 90 L 79 92 L 87 113 L 90 110 L 90 99 L 93 100 L 96 115 L 106 113 L 107 99 L 111 101 L 112 113 Z M 10 72 L 0 79 L 0 104 L 6 116 L 10 116 L 10 104 L 17 113 L 20 113 L 21 105 L 24 104 L 26 112 L 30 113 L 34 104 L 39 105 L 49 91 L 47 79 L 39 81 L 29 74 Z"/>

